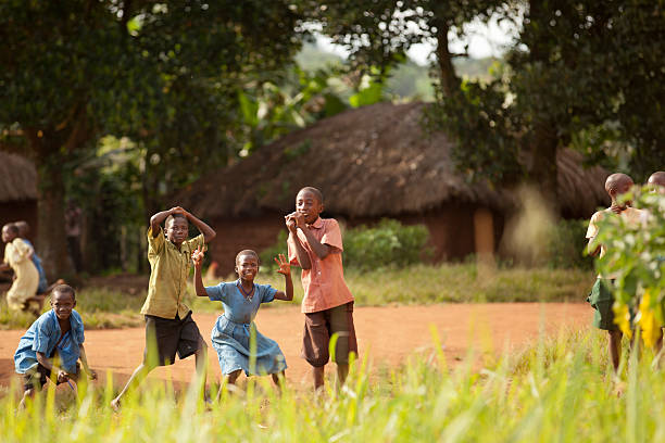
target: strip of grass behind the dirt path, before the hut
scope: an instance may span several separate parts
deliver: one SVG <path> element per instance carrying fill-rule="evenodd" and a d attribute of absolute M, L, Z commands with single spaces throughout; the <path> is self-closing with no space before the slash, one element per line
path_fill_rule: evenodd
<path fill-rule="evenodd" d="M 477 303 L 477 302 L 580 302 L 593 283 L 593 274 L 578 269 L 507 268 L 478 271 L 473 264 L 414 265 L 403 269 L 380 269 L 368 273 L 350 270 L 347 282 L 357 306 L 387 304 Z M 235 279 L 229 276 L 227 280 Z M 300 271 L 293 271 L 296 296 L 302 301 Z M 284 277 L 261 273 L 259 283 L 284 289 Z M 216 281 L 209 281 L 215 284 Z M 86 328 L 122 328 L 142 325 L 139 311 L 146 292 L 128 294 L 110 289 L 84 288 L 77 293 L 76 309 Z M 190 288 L 187 304 L 195 312 L 219 312 L 219 303 L 197 298 Z M 284 302 L 271 307 L 284 306 Z M 48 308 L 48 305 L 45 307 Z M 0 304 L 0 329 L 27 328 L 29 315 L 9 314 L 4 301 Z"/>

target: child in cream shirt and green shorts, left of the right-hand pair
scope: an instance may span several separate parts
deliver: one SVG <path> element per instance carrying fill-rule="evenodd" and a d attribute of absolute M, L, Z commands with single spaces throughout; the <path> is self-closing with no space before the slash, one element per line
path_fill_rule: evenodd
<path fill-rule="evenodd" d="M 599 232 L 599 221 L 604 217 L 617 215 L 626 219 L 628 224 L 639 224 L 643 217 L 643 211 L 630 207 L 630 202 L 619 203 L 619 195 L 628 192 L 632 188 L 633 181 L 626 174 L 612 174 L 605 181 L 605 190 L 612 199 L 612 205 L 603 211 L 598 211 L 591 216 L 589 228 L 587 229 L 587 238 L 589 239 L 588 251 L 590 255 L 598 255 L 602 258 L 605 255 L 605 245 L 598 244 L 595 238 Z M 619 358 L 622 353 L 622 331 L 614 322 L 614 295 L 611 291 L 611 282 L 614 276 L 601 276 L 595 279 L 595 283 L 591 289 L 591 293 L 587 301 L 595 308 L 593 315 L 593 326 L 599 329 L 606 330 L 608 333 L 608 347 L 612 365 L 614 369 L 618 369 Z M 610 280 L 610 281 L 607 281 Z"/>

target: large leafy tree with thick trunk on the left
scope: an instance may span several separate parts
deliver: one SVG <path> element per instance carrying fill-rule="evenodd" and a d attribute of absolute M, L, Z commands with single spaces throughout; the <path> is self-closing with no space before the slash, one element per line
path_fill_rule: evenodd
<path fill-rule="evenodd" d="M 294 4 L 292 4 L 294 3 Z M 39 174 L 39 248 L 68 273 L 65 164 L 106 134 L 145 154 L 146 211 L 233 153 L 237 90 L 299 47 L 297 2 L 0 2 L 0 134 Z"/>

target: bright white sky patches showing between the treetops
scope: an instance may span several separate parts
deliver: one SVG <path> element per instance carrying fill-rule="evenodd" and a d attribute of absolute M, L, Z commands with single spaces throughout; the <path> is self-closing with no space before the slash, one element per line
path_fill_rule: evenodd
<path fill-rule="evenodd" d="M 506 22 L 499 24 L 495 18 L 490 20 L 488 24 L 477 20 L 466 26 L 466 36 L 463 40 L 451 40 L 453 36 L 449 35 L 449 47 L 452 52 L 464 52 L 464 46 L 468 43 L 468 54 L 474 59 L 501 56 L 517 30 L 513 24 L 509 25 Z M 328 37 L 317 35 L 316 42 L 328 52 L 348 56 L 347 50 L 334 45 Z M 409 56 L 421 65 L 429 64 L 431 60 L 428 58 L 431 56 L 435 45 L 435 42 L 414 45 L 409 51 Z"/>

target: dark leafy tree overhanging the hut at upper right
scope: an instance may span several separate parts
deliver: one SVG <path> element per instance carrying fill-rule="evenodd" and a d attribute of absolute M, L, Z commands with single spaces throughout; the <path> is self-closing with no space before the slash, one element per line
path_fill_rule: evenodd
<path fill-rule="evenodd" d="M 435 122 L 457 140 L 459 164 L 494 181 L 526 178 L 553 204 L 562 147 L 577 147 L 590 163 L 612 164 L 618 153 L 638 179 L 662 168 L 663 5 L 559 0 L 522 8 L 504 75 L 439 96 Z"/>

